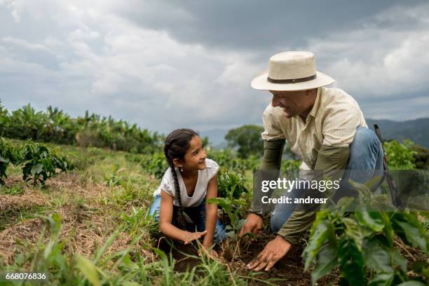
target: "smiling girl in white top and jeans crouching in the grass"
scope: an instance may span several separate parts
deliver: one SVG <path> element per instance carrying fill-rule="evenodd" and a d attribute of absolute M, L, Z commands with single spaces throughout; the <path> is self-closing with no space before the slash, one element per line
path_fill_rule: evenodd
<path fill-rule="evenodd" d="M 219 165 L 206 158 L 200 137 L 191 129 L 171 132 L 165 139 L 164 154 L 170 168 L 154 192 L 150 214 L 160 222 L 165 236 L 184 244 L 203 237 L 203 247 L 208 250 L 212 243 L 226 238 L 217 219 L 217 205 L 205 203 L 217 197 Z"/>

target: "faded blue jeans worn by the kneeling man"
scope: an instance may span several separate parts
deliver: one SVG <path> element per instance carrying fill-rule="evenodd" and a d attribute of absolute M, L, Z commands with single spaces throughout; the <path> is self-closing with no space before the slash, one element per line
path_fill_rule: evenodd
<path fill-rule="evenodd" d="M 381 175 L 382 172 L 383 149 L 379 138 L 372 130 L 362 126 L 357 127 L 353 142 L 350 144 L 350 156 L 338 191 L 342 189 L 346 190 L 345 193 L 347 193 L 347 189 L 351 189 L 348 185 L 349 179 L 353 180 L 353 182 L 363 184 L 371 179 L 375 173 Z M 300 190 L 294 189 L 290 193 L 287 193 L 287 196 L 292 198 L 293 201 L 294 196 L 299 196 L 299 193 Z M 280 231 L 283 224 L 287 222 L 287 219 L 294 212 L 295 207 L 297 205 L 293 203 L 279 203 L 275 205 L 271 213 L 271 230 L 274 233 Z"/>

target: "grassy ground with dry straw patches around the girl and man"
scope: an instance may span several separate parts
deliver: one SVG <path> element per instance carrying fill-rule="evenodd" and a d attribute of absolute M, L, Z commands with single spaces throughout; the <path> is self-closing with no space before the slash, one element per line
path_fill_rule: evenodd
<path fill-rule="evenodd" d="M 52 147 L 69 154 L 74 172 L 58 175 L 42 188 L 21 182 L 20 169 L 10 168 L 6 185 L 0 186 L 0 273 L 46 272 L 48 285 L 311 283 L 309 273 L 303 272 L 299 247 L 271 273 L 245 268 L 273 238 L 269 223 L 257 238 L 234 238 L 221 245 L 217 251 L 223 255 L 217 260 L 198 257 L 198 245 L 163 247 L 166 240 L 148 215 L 160 181 L 144 170 L 144 155 Z M 246 171 L 245 178 L 251 186 L 252 172 Z M 420 255 L 402 248 L 413 257 Z M 233 255 L 226 259 L 227 253 Z M 332 273 L 319 285 L 338 280 L 338 273 Z"/>

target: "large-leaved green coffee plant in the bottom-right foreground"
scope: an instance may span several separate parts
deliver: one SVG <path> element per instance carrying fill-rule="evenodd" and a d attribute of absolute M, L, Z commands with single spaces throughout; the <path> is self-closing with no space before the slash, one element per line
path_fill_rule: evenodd
<path fill-rule="evenodd" d="M 393 248 L 397 236 L 406 245 L 428 252 L 428 237 L 416 214 L 388 211 L 387 205 L 362 205 L 357 212 L 346 212 L 352 203 L 356 203 L 353 198 L 341 199 L 333 211 L 316 215 L 303 252 L 306 270 L 314 262 L 313 285 L 336 267 L 341 285 L 428 285 L 428 261 L 412 264 L 416 277 L 411 278 L 407 259 Z"/>

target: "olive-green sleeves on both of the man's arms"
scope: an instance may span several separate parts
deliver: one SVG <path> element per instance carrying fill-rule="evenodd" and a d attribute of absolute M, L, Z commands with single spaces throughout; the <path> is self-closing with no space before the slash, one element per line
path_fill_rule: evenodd
<path fill-rule="evenodd" d="M 284 146 L 285 139 L 264 141 L 264 157 L 259 170 L 279 170 L 280 172 L 282 150 Z M 335 176 L 339 177 L 342 174 L 334 170 L 344 170 L 349 155 L 350 149 L 348 146 L 329 147 L 322 145 L 318 152 L 314 170 L 323 170 L 324 174 L 335 172 Z M 315 219 L 315 212 L 299 209 L 298 206 L 277 233 L 292 244 L 297 243 L 299 236 L 304 234 L 311 227 Z"/>

